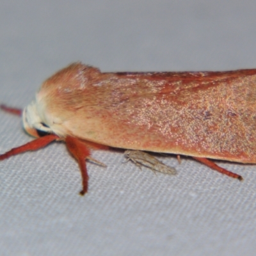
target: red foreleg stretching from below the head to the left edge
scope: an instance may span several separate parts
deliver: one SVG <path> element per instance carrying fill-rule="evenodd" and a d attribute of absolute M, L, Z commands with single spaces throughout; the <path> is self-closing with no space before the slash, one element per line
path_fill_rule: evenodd
<path fill-rule="evenodd" d="M 38 139 L 35 139 L 33 141 L 30 141 L 29 143 L 26 143 L 20 147 L 12 148 L 10 151 L 0 155 L 0 160 L 4 160 L 8 157 L 15 156 L 17 154 L 30 151 L 30 150 L 38 150 L 39 148 L 43 148 L 49 143 L 51 143 L 54 140 L 57 140 L 59 136 L 55 134 L 49 134 L 44 137 L 40 137 Z"/>

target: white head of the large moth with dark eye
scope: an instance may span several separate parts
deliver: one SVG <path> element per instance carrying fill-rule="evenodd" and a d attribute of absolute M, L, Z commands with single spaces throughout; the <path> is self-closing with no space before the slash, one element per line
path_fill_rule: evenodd
<path fill-rule="evenodd" d="M 23 127 L 33 137 L 42 137 L 52 133 L 51 129 L 44 123 L 36 108 L 36 102 L 32 101 L 22 113 Z"/>

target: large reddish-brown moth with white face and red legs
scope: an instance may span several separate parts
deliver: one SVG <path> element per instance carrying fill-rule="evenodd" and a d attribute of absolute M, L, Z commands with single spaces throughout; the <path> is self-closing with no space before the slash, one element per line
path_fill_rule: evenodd
<path fill-rule="evenodd" d="M 21 113 L 2 105 L 2 109 Z M 228 72 L 100 72 L 72 63 L 49 77 L 22 113 L 36 137 L 0 159 L 65 141 L 88 191 L 86 159 L 108 147 L 256 163 L 256 69 Z"/>

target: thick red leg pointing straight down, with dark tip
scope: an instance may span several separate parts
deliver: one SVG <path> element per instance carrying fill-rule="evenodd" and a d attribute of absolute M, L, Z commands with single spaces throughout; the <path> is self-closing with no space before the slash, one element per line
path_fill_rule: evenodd
<path fill-rule="evenodd" d="M 79 164 L 83 183 L 83 189 L 80 191 L 80 195 L 84 195 L 88 191 L 89 180 L 85 159 L 90 157 L 90 150 L 82 141 L 71 136 L 67 136 L 66 145 L 69 152 L 77 159 Z"/>

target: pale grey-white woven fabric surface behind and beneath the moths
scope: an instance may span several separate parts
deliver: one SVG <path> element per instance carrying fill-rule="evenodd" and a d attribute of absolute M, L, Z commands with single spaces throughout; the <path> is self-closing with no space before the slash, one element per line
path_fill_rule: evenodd
<path fill-rule="evenodd" d="M 255 1 L 0 3 L 0 102 L 24 107 L 72 61 L 102 71 L 256 67 Z M 30 140 L 0 113 L 0 152 Z M 189 157 L 154 175 L 93 152 L 89 193 L 61 143 L 0 163 L 0 255 L 255 255 L 256 166 L 223 163 L 244 182 Z"/>

